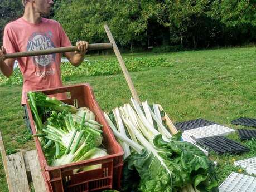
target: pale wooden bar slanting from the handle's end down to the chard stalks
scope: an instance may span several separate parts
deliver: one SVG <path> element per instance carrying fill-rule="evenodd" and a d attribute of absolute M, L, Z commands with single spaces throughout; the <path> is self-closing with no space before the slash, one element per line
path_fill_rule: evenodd
<path fill-rule="evenodd" d="M 109 27 L 107 26 L 107 24 L 104 25 L 104 29 L 105 29 L 105 32 L 108 35 L 110 43 L 113 44 L 113 50 L 115 52 L 115 56 L 117 56 L 117 60 L 118 60 L 118 62 L 120 64 L 120 67 L 121 67 L 123 73 L 124 73 L 125 80 L 128 83 L 128 86 L 129 86 L 129 89 L 130 89 L 130 91 L 132 93 L 133 99 L 136 100 L 139 103 L 139 105 L 141 105 L 141 101 L 139 100 L 138 93 L 137 93 L 137 91 L 134 88 L 134 85 L 133 85 L 133 82 L 132 82 L 132 78 L 129 75 L 129 72 L 127 71 L 127 68 L 125 67 L 125 63 L 123 61 L 123 58 L 122 58 L 122 56 L 121 56 L 121 54 L 120 54 L 120 52 L 118 50 L 117 44 L 115 43 L 115 40 L 114 40 L 114 38 L 112 36 L 112 33 L 110 32 Z"/>

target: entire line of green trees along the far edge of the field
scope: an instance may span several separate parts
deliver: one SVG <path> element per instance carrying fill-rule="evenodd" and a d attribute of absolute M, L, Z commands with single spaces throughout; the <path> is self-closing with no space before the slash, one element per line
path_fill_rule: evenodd
<path fill-rule="evenodd" d="M 22 13 L 20 0 L 0 3 L 0 30 Z M 253 0 L 56 0 L 51 18 L 71 42 L 106 42 L 107 23 L 119 46 L 160 51 L 254 43 Z"/>

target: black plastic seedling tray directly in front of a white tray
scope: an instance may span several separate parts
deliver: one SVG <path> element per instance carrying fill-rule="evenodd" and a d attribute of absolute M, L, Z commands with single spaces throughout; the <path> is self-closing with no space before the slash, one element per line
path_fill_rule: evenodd
<path fill-rule="evenodd" d="M 238 142 L 230 140 L 224 136 L 205 137 L 196 139 L 196 142 L 202 146 L 209 148 L 217 154 L 246 152 L 250 149 L 240 145 Z"/>

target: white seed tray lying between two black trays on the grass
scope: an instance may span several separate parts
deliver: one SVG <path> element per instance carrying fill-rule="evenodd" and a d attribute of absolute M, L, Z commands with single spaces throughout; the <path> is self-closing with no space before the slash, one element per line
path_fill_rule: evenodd
<path fill-rule="evenodd" d="M 184 131 L 185 134 L 192 136 L 196 139 L 211 136 L 228 135 L 232 132 L 235 132 L 235 130 L 218 124 L 207 125 L 204 127 Z"/>

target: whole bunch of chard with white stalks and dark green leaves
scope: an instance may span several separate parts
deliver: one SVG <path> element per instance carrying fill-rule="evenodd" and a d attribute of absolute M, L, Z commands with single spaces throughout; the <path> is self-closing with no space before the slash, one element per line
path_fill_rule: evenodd
<path fill-rule="evenodd" d="M 134 149 L 133 143 L 143 147 L 141 153 L 131 152 L 125 159 L 123 183 L 133 181 L 138 175 L 139 183 L 125 186 L 124 191 L 142 192 L 214 192 L 218 191 L 218 183 L 214 170 L 214 163 L 194 144 L 183 142 L 181 133 L 171 135 L 163 125 L 158 105 L 149 107 L 147 102 L 142 103 L 131 99 L 134 109 L 125 104 L 113 110 L 114 120 L 117 124 L 123 121 L 128 135 L 132 141 L 123 139 L 123 142 Z M 118 117 L 120 116 L 122 119 Z M 106 114 L 105 114 L 106 116 Z M 106 119 L 110 121 L 110 118 Z M 118 120 L 119 119 L 119 120 Z M 110 127 L 119 140 L 122 139 L 120 129 L 114 124 Z M 119 134 L 117 132 L 119 131 Z M 122 135 L 122 134 L 121 134 Z M 125 135 L 122 135 L 125 137 Z M 129 141 L 129 142 L 128 142 Z M 131 144 L 129 144 L 131 143 Z M 137 180 L 138 181 L 138 180 Z M 137 188 L 137 190 L 136 190 Z"/>

